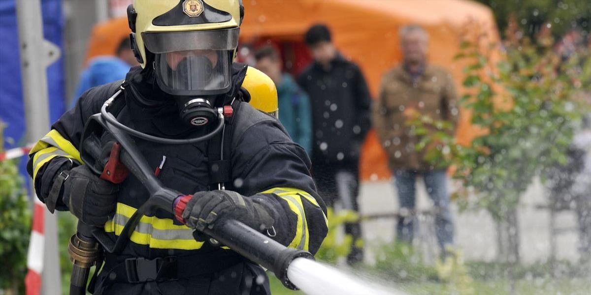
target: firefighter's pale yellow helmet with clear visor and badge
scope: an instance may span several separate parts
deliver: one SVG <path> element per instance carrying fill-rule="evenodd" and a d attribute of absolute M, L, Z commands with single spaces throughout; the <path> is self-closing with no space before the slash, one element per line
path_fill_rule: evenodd
<path fill-rule="evenodd" d="M 224 93 L 244 9 L 240 0 L 134 0 L 127 9 L 135 57 L 177 96 Z"/>

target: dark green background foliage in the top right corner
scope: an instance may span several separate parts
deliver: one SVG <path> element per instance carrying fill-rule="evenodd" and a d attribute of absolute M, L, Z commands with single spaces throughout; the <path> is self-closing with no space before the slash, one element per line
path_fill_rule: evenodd
<path fill-rule="evenodd" d="M 477 0 L 495 14 L 499 30 L 504 32 L 509 19 L 517 19 L 521 31 L 533 37 L 545 25 L 553 28 L 554 37 L 577 29 L 583 35 L 591 28 L 591 1 L 585 0 Z M 518 8 L 518 9 L 517 9 Z"/>

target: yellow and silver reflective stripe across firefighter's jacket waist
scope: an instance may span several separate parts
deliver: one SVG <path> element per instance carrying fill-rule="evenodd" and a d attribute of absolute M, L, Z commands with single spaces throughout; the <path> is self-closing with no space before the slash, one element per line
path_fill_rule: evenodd
<path fill-rule="evenodd" d="M 117 203 L 115 217 L 105 224 L 106 232 L 121 235 L 125 224 L 137 211 L 134 207 Z M 132 242 L 148 245 L 150 248 L 195 250 L 203 242 L 195 241 L 193 230 L 186 225 L 173 224 L 173 219 L 142 216 L 129 238 Z"/>

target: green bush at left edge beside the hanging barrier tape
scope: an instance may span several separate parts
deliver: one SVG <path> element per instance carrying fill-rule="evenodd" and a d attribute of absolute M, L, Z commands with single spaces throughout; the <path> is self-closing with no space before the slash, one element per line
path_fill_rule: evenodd
<path fill-rule="evenodd" d="M 3 129 L 0 123 L 0 152 Z M 0 290 L 8 294 L 24 293 L 30 234 L 30 203 L 17 164 L 15 160 L 0 161 Z"/>

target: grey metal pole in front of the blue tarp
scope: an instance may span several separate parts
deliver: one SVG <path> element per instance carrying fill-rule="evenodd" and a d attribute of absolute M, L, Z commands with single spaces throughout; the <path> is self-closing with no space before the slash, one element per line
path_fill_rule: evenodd
<path fill-rule="evenodd" d="M 18 39 L 21 56 L 22 97 L 27 119 L 27 142 L 35 142 L 49 131 L 47 65 L 60 52 L 43 38 L 39 0 L 16 1 Z M 30 188 L 33 194 L 33 188 Z M 33 198 L 37 198 L 33 194 Z M 41 293 L 61 294 L 56 215 L 46 212 L 44 220 L 44 255 Z"/>

